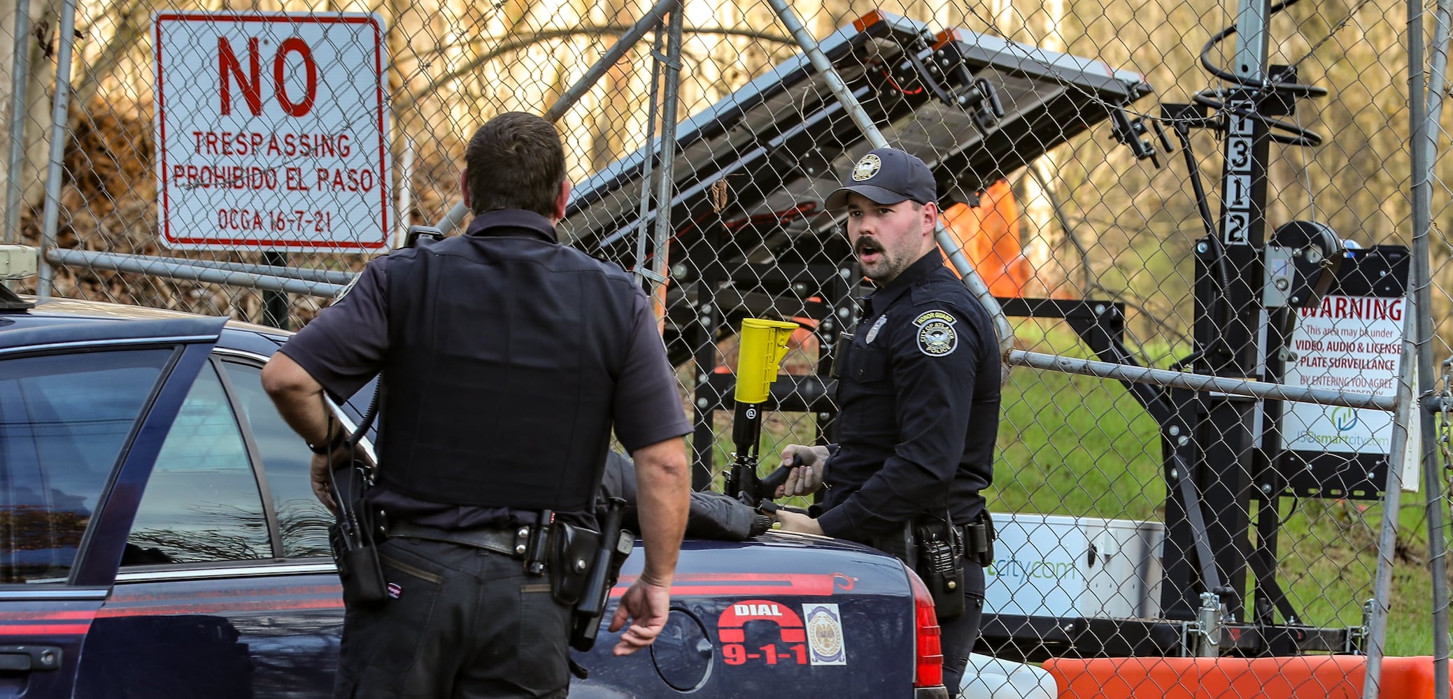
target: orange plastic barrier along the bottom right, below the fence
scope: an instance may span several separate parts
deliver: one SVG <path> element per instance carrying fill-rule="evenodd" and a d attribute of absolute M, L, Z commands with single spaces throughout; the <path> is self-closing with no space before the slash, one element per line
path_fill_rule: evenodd
<path fill-rule="evenodd" d="M 1364 655 L 1051 658 L 1061 699 L 1357 699 Z M 1433 657 L 1383 658 L 1380 696 L 1433 699 Z"/>

